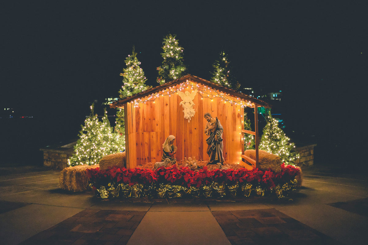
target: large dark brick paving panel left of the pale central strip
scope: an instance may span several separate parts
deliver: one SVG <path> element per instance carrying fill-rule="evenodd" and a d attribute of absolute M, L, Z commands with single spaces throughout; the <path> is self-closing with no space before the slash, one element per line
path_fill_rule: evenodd
<path fill-rule="evenodd" d="M 146 212 L 85 209 L 21 244 L 126 244 Z"/>

